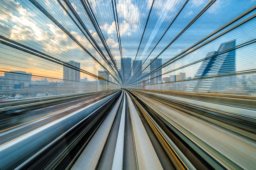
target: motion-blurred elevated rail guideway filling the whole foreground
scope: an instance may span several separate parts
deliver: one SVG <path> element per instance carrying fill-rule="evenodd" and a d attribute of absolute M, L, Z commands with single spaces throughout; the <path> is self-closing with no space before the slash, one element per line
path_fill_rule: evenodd
<path fill-rule="evenodd" d="M 74 105 L 72 101 L 70 104 Z M 44 120 L 48 119 L 38 122 Z M 29 125 L 32 123 L 26 127 Z M 12 140 L 2 140 L 0 168 L 249 169 L 255 165 L 254 128 L 252 117 L 162 94 L 120 90 L 87 105 L 67 109 L 62 116 L 22 136 L 16 134 Z M 0 133 L 0 139 L 15 131 L 16 128 Z M 248 160 L 242 161 L 239 156 Z"/>

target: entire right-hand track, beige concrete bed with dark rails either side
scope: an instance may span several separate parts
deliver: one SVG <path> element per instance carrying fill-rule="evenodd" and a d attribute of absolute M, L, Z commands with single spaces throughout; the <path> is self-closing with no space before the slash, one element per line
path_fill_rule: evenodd
<path fill-rule="evenodd" d="M 221 117 L 220 110 L 219 115 L 213 114 L 212 109 L 211 112 L 206 108 L 202 110 L 202 107 L 171 100 L 171 97 L 163 98 L 152 93 L 130 94 L 141 105 L 152 128 L 159 134 L 162 128 L 167 135 L 163 133 L 159 138 L 166 137 L 166 140 L 169 137 L 173 148 L 179 149 L 176 155 L 183 153 L 196 169 L 250 169 L 255 166 L 255 156 L 251 155 L 255 150 L 253 118 L 241 116 L 250 121 L 234 121 L 233 118 Z M 240 159 L 241 155 L 250 160 Z"/>

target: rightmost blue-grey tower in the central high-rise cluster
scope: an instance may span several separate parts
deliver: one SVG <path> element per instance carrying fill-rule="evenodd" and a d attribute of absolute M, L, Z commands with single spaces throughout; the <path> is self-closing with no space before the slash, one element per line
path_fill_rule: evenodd
<path fill-rule="evenodd" d="M 150 60 L 150 63 L 154 60 L 154 58 L 152 58 Z M 150 72 L 154 71 L 157 67 L 162 65 L 162 58 L 157 58 L 154 62 L 152 62 L 152 64 L 150 64 Z M 154 72 L 153 74 L 150 75 L 150 84 L 155 84 L 158 82 L 162 82 L 162 69 Z M 157 77 L 158 76 L 158 77 Z M 153 78 L 155 77 L 155 78 Z M 151 79 L 152 78 L 152 79 Z"/>

